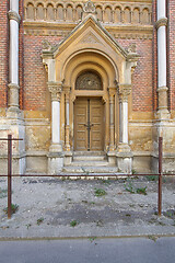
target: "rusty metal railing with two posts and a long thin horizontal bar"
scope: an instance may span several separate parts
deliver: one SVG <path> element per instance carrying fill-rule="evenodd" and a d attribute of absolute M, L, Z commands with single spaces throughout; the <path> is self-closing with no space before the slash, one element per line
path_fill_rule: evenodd
<path fill-rule="evenodd" d="M 0 140 L 8 140 L 8 175 L 5 174 L 0 174 L 0 178 L 2 176 L 8 176 L 8 218 L 11 218 L 11 205 L 12 205 L 12 178 L 14 176 L 23 176 L 23 178 L 30 178 L 30 176 L 51 176 L 51 178 L 126 178 L 126 176 L 150 176 L 150 173 L 140 173 L 140 174 L 125 174 L 125 173 L 119 173 L 119 174 L 68 174 L 68 175 L 62 175 L 62 174 L 43 174 L 43 175 L 36 175 L 36 174 L 13 174 L 12 175 L 12 141 L 13 140 L 23 140 L 19 138 L 12 138 L 12 135 L 8 135 L 8 138 L 0 138 Z M 151 175 L 156 175 L 159 176 L 159 185 L 158 185 L 158 215 L 162 215 L 162 176 L 163 171 L 162 171 L 162 142 L 163 138 L 159 137 L 159 173 Z M 165 175 L 175 175 L 175 174 L 165 174 Z"/>

